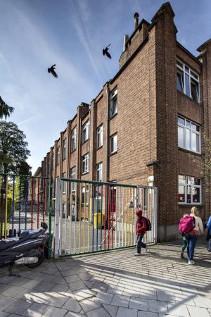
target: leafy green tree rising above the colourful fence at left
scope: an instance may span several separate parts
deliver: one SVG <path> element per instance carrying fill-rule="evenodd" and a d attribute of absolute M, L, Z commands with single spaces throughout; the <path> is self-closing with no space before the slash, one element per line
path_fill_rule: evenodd
<path fill-rule="evenodd" d="M 0 170 L 1 173 L 30 173 L 26 162 L 30 151 L 27 149 L 25 134 L 12 122 L 0 121 Z"/>

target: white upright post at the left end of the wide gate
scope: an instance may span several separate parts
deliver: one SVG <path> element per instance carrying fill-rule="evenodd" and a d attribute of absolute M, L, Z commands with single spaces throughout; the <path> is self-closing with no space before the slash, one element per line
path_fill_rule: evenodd
<path fill-rule="evenodd" d="M 56 207 L 55 207 L 55 230 L 54 230 L 54 259 L 59 256 L 59 232 L 60 232 L 60 178 L 56 178 Z"/>

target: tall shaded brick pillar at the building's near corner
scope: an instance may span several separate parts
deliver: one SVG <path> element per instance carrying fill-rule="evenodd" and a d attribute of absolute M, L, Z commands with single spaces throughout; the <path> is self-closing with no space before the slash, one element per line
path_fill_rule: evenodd
<path fill-rule="evenodd" d="M 155 24 L 158 167 L 158 240 L 178 234 L 176 32 L 169 3 L 161 6 Z"/>

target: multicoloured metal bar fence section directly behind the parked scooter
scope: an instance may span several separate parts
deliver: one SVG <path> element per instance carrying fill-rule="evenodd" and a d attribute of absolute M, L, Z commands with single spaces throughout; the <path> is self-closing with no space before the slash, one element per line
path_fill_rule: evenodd
<path fill-rule="evenodd" d="M 41 221 L 49 223 L 49 185 L 49 178 L 0 175 L 0 239 L 38 229 Z"/>

